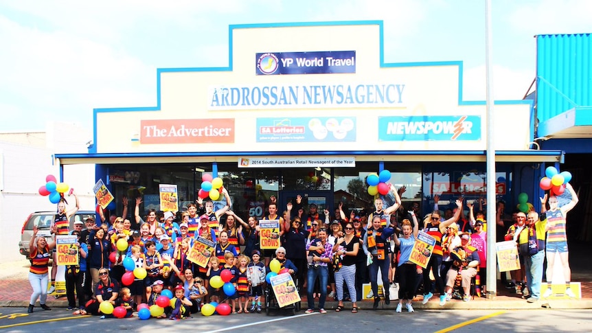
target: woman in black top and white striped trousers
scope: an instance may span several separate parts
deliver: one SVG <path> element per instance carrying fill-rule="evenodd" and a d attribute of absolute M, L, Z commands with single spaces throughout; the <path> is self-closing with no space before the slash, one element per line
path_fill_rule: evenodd
<path fill-rule="evenodd" d="M 354 224 L 345 223 L 345 236 L 337 239 L 333 251 L 342 256 L 341 268 L 335 272 L 335 286 L 337 287 L 337 309 L 343 309 L 343 281 L 348 284 L 350 299 L 352 300 L 352 313 L 358 312 L 358 295 L 356 295 L 356 257 L 360 249 L 360 240 L 354 234 Z"/>

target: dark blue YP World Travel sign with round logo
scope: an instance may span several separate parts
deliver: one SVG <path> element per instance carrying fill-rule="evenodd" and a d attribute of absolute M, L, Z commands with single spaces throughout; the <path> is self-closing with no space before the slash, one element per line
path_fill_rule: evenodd
<path fill-rule="evenodd" d="M 255 54 L 256 75 L 356 73 L 356 51 Z"/>

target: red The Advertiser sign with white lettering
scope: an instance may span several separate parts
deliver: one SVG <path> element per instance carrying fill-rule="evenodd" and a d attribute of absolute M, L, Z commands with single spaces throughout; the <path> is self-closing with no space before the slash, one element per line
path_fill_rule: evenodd
<path fill-rule="evenodd" d="M 142 120 L 140 143 L 234 143 L 231 119 Z"/>

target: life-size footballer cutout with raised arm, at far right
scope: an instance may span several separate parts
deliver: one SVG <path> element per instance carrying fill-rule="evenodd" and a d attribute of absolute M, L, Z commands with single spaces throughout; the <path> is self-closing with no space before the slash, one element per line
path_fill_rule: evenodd
<path fill-rule="evenodd" d="M 547 211 L 547 290 L 543 298 L 552 294 L 551 284 L 553 283 L 553 270 L 556 260 L 556 253 L 559 253 L 559 260 L 563 266 L 563 277 L 565 278 L 565 295 L 576 297 L 569 286 L 571 282 L 571 268 L 569 268 L 569 252 L 567 251 L 567 234 L 565 233 L 567 212 L 578 203 L 578 194 L 573 190 L 570 183 L 565 185 L 565 190 L 571 194 L 569 203 L 559 207 L 557 196 L 549 197 L 549 211 Z M 545 212 L 545 208 L 541 210 Z"/>

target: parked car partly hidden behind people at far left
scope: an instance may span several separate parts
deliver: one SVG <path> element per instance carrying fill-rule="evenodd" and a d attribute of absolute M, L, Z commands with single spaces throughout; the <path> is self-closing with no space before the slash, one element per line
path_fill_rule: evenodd
<path fill-rule="evenodd" d="M 74 229 L 74 222 L 86 221 L 87 218 L 92 217 L 97 220 L 98 216 L 95 211 L 77 211 L 76 214 L 70 216 L 70 230 Z M 44 236 L 50 238 L 52 236 L 49 228 L 52 227 L 52 222 L 56 219 L 55 211 L 35 211 L 30 214 L 27 220 L 23 223 L 21 229 L 21 241 L 19 242 L 19 252 L 25 257 L 29 257 L 29 241 L 33 236 L 33 227 L 36 226 L 39 230 L 37 236 Z"/>

